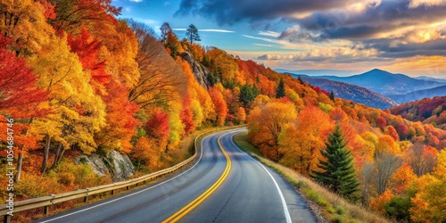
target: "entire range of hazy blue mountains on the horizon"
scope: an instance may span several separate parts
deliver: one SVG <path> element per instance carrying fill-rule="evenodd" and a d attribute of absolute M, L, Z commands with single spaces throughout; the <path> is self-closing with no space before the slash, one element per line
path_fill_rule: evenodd
<path fill-rule="evenodd" d="M 333 90 L 335 95 L 339 97 L 381 109 L 390 108 L 396 103 L 407 103 L 426 97 L 446 95 L 446 79 L 442 78 L 426 76 L 411 78 L 404 74 L 391 73 L 379 69 L 369 70 L 348 77 L 330 75 L 310 77 L 304 73 L 305 70 L 277 70 L 287 74 L 293 74 L 295 78 L 302 77 L 311 85 L 321 87 L 326 91 Z M 329 71 L 320 70 L 320 72 L 315 72 L 314 70 L 309 70 L 309 73 L 321 74 Z M 335 70 L 336 75 L 339 74 L 339 71 L 341 70 Z"/>

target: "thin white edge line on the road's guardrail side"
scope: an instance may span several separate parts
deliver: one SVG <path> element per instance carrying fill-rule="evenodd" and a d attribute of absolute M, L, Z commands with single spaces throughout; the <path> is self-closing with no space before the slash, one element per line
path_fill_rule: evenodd
<path fill-rule="evenodd" d="M 240 129 L 237 129 L 237 130 L 232 131 L 232 132 L 236 132 L 236 131 L 240 131 Z M 232 133 L 232 132 L 228 132 L 227 134 Z M 209 136 L 213 136 L 213 135 L 215 135 L 215 134 L 211 134 L 211 135 L 208 135 L 208 136 L 203 137 L 203 138 L 202 138 L 202 141 L 204 141 L 205 138 L 207 138 L 207 137 L 209 137 Z M 201 145 L 202 145 L 202 141 L 201 141 L 201 143 L 200 143 Z M 47 220 L 45 220 L 45 221 L 38 221 L 38 220 L 37 220 L 36 222 L 45 223 L 45 222 L 54 221 L 54 220 L 56 220 L 56 219 L 62 219 L 62 218 L 68 217 L 68 216 L 73 215 L 73 214 L 77 214 L 77 213 L 80 213 L 80 212 L 83 212 L 83 211 L 88 211 L 88 210 L 91 210 L 91 209 L 95 209 L 95 208 L 97 208 L 97 207 L 103 206 L 103 205 L 108 204 L 108 203 L 111 203 L 111 202 L 120 201 L 121 199 L 127 198 L 127 197 L 129 197 L 129 196 L 133 196 L 133 195 L 135 195 L 135 194 L 140 194 L 140 193 L 143 193 L 143 192 L 145 192 L 145 191 L 147 191 L 147 190 L 153 189 L 154 187 L 157 187 L 157 186 L 161 186 L 161 185 L 163 185 L 163 184 L 166 184 L 166 183 L 168 183 L 169 181 L 171 181 L 171 180 L 173 180 L 173 179 L 176 179 L 176 178 L 181 177 L 182 175 L 186 174 L 186 172 L 190 171 L 191 169 L 194 169 L 194 167 L 195 167 L 196 165 L 198 165 L 198 163 L 202 160 L 202 146 L 201 146 L 201 148 L 200 148 L 200 151 L 201 151 L 201 152 L 200 152 L 200 158 L 198 158 L 198 161 L 194 164 L 194 166 L 192 166 L 190 169 L 187 169 L 186 171 L 184 171 L 184 172 L 181 173 L 180 175 L 176 176 L 175 178 L 170 178 L 170 179 L 168 179 L 168 180 L 166 180 L 166 181 L 164 181 L 164 182 L 161 182 L 160 184 L 157 184 L 157 185 L 154 185 L 154 186 L 147 187 L 147 188 L 145 188 L 145 189 L 143 189 L 143 190 L 137 191 L 137 192 L 132 193 L 132 194 L 127 194 L 127 195 L 125 195 L 125 196 L 121 196 L 121 197 L 119 197 L 119 198 L 113 199 L 113 200 L 108 201 L 108 202 L 103 202 L 103 203 L 96 204 L 95 206 L 91 206 L 91 207 L 86 208 L 86 209 L 82 209 L 82 210 L 79 210 L 79 211 L 74 211 L 74 212 L 71 212 L 71 213 L 69 213 L 69 214 L 65 214 L 65 215 L 59 216 L 59 217 L 54 218 L 54 219 L 47 219 Z M 50 218 L 51 218 L 51 217 L 50 217 Z"/>

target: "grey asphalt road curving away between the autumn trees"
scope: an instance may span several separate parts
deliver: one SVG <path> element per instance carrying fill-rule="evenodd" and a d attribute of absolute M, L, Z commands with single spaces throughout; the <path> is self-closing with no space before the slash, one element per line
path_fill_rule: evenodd
<path fill-rule="evenodd" d="M 293 186 L 233 143 L 244 130 L 206 136 L 199 159 L 172 177 L 36 222 L 162 222 L 188 205 L 179 222 L 316 222 Z"/>

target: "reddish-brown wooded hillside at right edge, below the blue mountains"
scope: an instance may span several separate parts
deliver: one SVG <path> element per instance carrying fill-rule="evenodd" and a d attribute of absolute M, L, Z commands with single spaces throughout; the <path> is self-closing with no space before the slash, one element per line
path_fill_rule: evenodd
<path fill-rule="evenodd" d="M 402 103 L 390 109 L 392 114 L 424 124 L 433 124 L 446 130 L 446 96 L 435 96 L 410 103 Z"/>

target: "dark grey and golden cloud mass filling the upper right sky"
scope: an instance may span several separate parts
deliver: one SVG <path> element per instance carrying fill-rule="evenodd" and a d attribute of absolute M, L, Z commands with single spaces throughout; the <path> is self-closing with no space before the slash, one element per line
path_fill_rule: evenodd
<path fill-rule="evenodd" d="M 248 23 L 262 28 L 258 35 L 243 35 L 265 42 L 255 45 L 295 51 L 260 53 L 255 56 L 260 61 L 373 63 L 446 57 L 446 0 L 182 0 L 176 14 L 199 15 L 225 26 Z"/>

